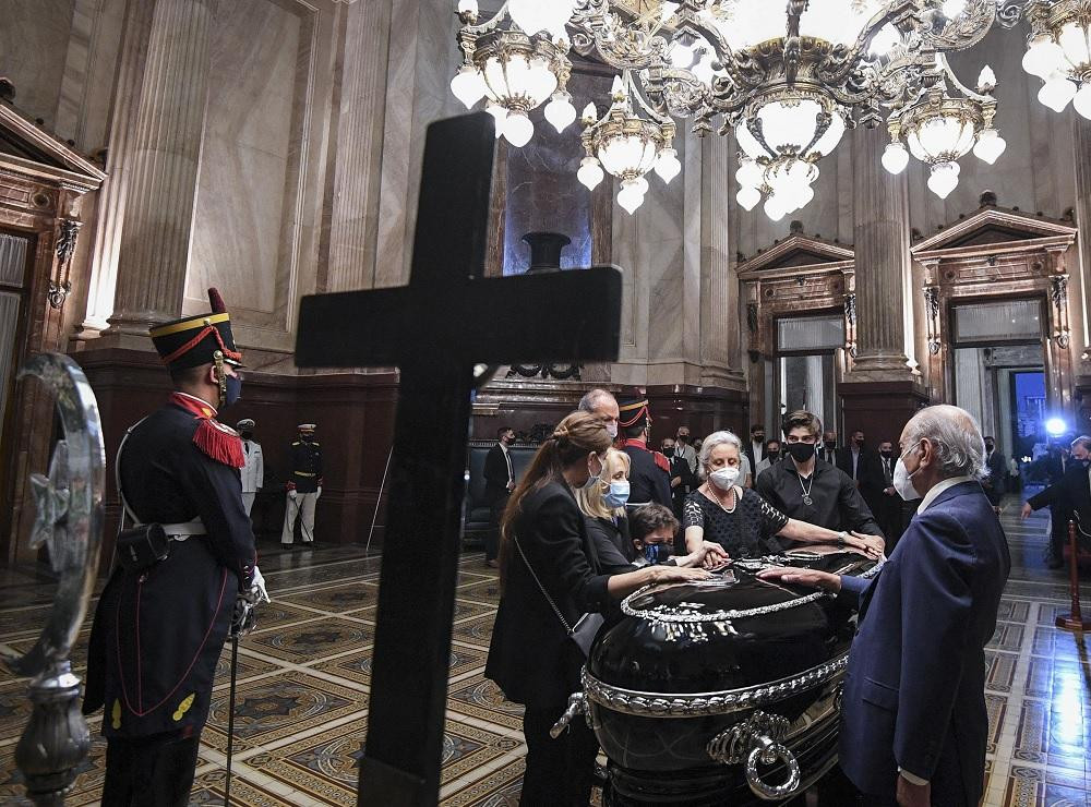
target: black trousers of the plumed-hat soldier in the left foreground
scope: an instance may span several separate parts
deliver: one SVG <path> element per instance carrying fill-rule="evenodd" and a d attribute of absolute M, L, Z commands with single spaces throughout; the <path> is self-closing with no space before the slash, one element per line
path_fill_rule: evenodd
<path fill-rule="evenodd" d="M 103 807 L 185 807 L 200 745 L 200 730 L 110 737 Z"/>

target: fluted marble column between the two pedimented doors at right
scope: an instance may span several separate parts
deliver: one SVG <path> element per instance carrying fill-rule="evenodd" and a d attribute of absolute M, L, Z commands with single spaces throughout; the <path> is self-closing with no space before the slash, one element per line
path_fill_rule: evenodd
<path fill-rule="evenodd" d="M 856 253 L 856 359 L 853 375 L 908 381 L 904 278 L 910 275 L 906 173 L 883 168 L 882 127 L 853 133 L 853 241 Z M 877 380 L 877 378 L 876 378 Z"/>

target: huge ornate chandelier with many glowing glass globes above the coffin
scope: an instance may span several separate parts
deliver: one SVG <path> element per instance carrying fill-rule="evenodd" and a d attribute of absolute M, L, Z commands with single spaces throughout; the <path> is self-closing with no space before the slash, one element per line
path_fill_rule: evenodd
<path fill-rule="evenodd" d="M 459 0 L 464 63 L 452 89 L 467 106 L 484 98 L 497 131 L 521 145 L 532 134 L 527 113 L 548 98 L 546 117 L 559 131 L 574 119 L 565 91 L 570 52 L 616 70 L 625 99 L 615 94 L 602 120 L 592 112 L 591 123 L 585 121 L 579 179 L 594 188 L 603 169 L 618 177 L 626 209 L 639 205 L 652 167 L 673 176 L 678 160 L 664 140 L 668 124 L 673 135 L 672 119 L 687 119 L 698 135 L 733 133 L 736 200 L 752 209 L 764 198 L 775 220 L 811 201 L 818 164 L 847 129 L 884 118 L 894 141 L 884 165 L 901 170 L 912 153 L 932 166 L 930 188 L 946 195 L 961 156 L 973 149 L 991 162 L 1004 141 L 992 125 L 995 80 L 971 91 L 944 55 L 976 45 L 996 22 L 1011 27 L 1028 3 L 1054 9 L 1031 15 L 1039 39 L 1052 37 L 1054 45 L 1035 65 L 1048 63 L 1054 75 L 1056 52 L 1064 50 L 1071 68 L 1065 81 L 1074 95 L 1091 99 L 1091 0 L 508 0 L 480 24 L 476 0 Z M 1071 16 L 1056 7 L 1074 3 L 1084 10 L 1072 17 L 1075 28 L 1065 27 L 1069 22 L 1048 27 L 1054 17 Z M 1070 31 L 1081 33 L 1082 50 Z M 618 132 L 625 125 L 623 141 Z M 622 142 L 624 149 L 616 145 Z M 609 156 L 603 144 L 615 144 Z"/>

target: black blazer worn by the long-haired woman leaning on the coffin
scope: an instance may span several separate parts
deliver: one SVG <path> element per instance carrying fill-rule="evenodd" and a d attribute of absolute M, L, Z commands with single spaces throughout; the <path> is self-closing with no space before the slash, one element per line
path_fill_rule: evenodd
<path fill-rule="evenodd" d="M 513 533 L 570 627 L 588 611 L 608 611 L 608 577 L 598 573 L 584 514 L 566 484 L 549 482 L 528 493 Z M 516 703 L 563 708 L 580 688 L 583 658 L 519 551 L 508 550 L 485 677 Z"/>

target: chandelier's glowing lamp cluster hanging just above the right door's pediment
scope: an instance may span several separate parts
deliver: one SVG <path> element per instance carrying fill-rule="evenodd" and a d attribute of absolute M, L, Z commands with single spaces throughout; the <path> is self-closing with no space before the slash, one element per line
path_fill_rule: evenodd
<path fill-rule="evenodd" d="M 890 115 L 891 143 L 883 154 L 883 167 L 901 173 L 912 154 L 931 166 L 928 189 L 947 198 L 958 185 L 959 158 L 972 148 L 979 159 L 993 165 L 1007 144 L 993 128 L 993 71 L 987 65 L 981 71 L 974 92 L 959 83 L 946 58 L 937 53 L 935 59 L 935 67 L 922 76 L 923 92 Z"/>

